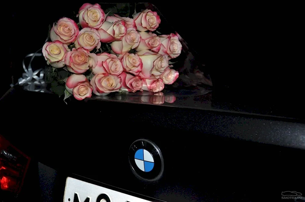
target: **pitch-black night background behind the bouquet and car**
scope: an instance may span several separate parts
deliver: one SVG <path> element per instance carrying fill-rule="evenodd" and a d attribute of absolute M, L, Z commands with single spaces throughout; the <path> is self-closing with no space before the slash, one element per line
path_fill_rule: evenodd
<path fill-rule="evenodd" d="M 67 12 L 77 12 L 83 3 L 18 3 L 8 7 L 8 20 L 2 25 L 3 30 L 8 27 L 4 43 L 10 60 L 2 66 L 2 94 L 12 83 L 10 75 L 15 79 L 21 76 L 23 57 L 43 45 L 48 25 Z M 300 6 L 152 3 L 200 55 L 206 65 L 203 71 L 212 77 L 214 98 L 258 108 L 272 106 L 287 113 L 303 110 Z"/>

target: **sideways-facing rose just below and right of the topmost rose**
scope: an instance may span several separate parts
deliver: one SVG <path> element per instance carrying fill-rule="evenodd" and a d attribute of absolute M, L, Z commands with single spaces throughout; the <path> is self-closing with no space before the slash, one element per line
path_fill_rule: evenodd
<path fill-rule="evenodd" d="M 126 31 L 127 28 L 124 20 L 119 20 L 114 23 L 104 22 L 100 29 L 98 29 L 103 43 L 121 40 L 126 35 Z"/>

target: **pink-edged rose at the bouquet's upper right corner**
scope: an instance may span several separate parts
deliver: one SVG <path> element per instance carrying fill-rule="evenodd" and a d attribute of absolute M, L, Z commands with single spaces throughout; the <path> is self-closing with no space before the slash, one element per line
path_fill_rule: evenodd
<path fill-rule="evenodd" d="M 134 17 L 137 30 L 140 32 L 155 31 L 161 23 L 160 16 L 155 11 L 146 9 Z"/>

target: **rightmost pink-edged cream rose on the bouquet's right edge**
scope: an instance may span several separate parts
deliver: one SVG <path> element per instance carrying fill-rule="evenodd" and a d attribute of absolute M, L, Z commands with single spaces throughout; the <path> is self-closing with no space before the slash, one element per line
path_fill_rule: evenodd
<path fill-rule="evenodd" d="M 176 58 L 181 54 L 182 45 L 176 34 L 160 35 L 161 48 L 159 54 L 166 54 L 170 58 Z"/>

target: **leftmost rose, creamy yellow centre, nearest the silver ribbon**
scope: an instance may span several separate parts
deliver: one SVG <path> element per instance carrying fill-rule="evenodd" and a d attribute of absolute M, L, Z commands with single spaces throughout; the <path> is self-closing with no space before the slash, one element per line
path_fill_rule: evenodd
<path fill-rule="evenodd" d="M 66 52 L 70 51 L 66 44 L 55 40 L 54 42 L 46 42 L 42 47 L 42 54 L 47 64 L 55 68 L 65 66 Z"/>

